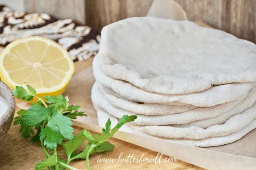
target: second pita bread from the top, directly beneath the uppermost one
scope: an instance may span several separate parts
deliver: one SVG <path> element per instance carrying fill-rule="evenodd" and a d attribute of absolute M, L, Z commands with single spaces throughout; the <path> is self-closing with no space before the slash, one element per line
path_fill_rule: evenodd
<path fill-rule="evenodd" d="M 164 95 L 154 92 L 148 92 L 139 89 L 133 84 L 125 81 L 120 81 L 105 75 L 99 65 L 99 57 L 96 56 L 93 61 L 93 75 L 104 88 L 104 91 L 111 93 L 119 98 L 124 98 L 130 101 L 144 102 L 144 103 L 162 103 L 162 104 L 192 104 L 198 107 L 211 107 L 217 104 L 222 104 L 228 101 L 233 101 L 241 95 L 249 92 L 255 82 L 240 83 L 240 84 L 224 84 L 220 86 L 213 86 L 202 92 L 195 92 L 185 95 Z M 175 102 L 176 103 L 173 103 Z M 180 105 L 180 104 L 179 104 Z"/>

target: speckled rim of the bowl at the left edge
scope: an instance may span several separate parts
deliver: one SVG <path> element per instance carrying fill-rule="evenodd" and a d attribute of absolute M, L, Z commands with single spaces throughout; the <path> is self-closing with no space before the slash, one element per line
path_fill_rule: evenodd
<path fill-rule="evenodd" d="M 6 120 L 9 119 L 10 116 L 14 114 L 14 109 L 15 109 L 15 97 L 12 92 L 12 89 L 5 84 L 3 81 L 0 80 L 0 86 L 4 86 L 6 88 L 6 91 L 9 92 L 10 94 L 10 101 L 9 101 L 9 106 L 6 112 L 3 114 L 3 116 L 0 117 L 0 126 L 6 122 Z"/>

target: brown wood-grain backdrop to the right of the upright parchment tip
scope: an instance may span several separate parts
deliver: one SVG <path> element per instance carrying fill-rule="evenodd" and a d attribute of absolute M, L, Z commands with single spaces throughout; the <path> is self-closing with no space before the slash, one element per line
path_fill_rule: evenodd
<path fill-rule="evenodd" d="M 256 43 L 255 0 L 176 0 L 191 21 L 200 20 L 219 30 Z"/>

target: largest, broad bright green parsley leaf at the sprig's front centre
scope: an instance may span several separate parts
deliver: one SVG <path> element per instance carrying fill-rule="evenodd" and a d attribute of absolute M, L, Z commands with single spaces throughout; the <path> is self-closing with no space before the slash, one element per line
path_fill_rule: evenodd
<path fill-rule="evenodd" d="M 74 129 L 71 125 L 73 125 L 71 119 L 56 110 L 56 113 L 49 119 L 48 124 L 41 132 L 40 140 L 45 138 L 44 145 L 49 149 L 56 148 L 57 143 L 62 144 L 64 138 L 72 141 Z"/>

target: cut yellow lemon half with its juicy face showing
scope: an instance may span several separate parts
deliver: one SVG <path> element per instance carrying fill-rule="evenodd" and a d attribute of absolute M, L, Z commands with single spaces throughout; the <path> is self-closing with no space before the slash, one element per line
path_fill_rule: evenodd
<path fill-rule="evenodd" d="M 61 94 L 74 73 L 62 46 L 37 36 L 11 42 L 0 54 L 0 77 L 12 89 L 31 85 L 37 96 Z"/>

